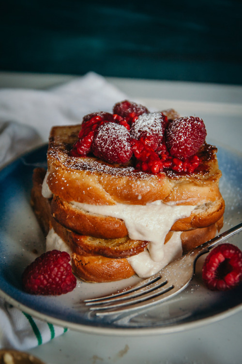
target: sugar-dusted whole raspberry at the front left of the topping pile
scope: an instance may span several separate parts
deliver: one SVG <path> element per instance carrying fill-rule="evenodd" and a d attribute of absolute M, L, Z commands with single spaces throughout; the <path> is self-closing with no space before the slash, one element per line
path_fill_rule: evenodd
<path fill-rule="evenodd" d="M 92 151 L 106 162 L 125 164 L 133 154 L 130 133 L 120 124 L 102 124 L 93 139 Z"/>

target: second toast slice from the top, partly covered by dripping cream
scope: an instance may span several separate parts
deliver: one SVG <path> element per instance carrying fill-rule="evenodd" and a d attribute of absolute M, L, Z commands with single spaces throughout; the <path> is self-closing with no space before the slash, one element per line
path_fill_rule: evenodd
<path fill-rule="evenodd" d="M 51 212 L 61 225 L 80 234 L 106 239 L 116 239 L 128 235 L 122 219 L 91 213 L 81 206 L 82 204 L 67 202 L 54 195 L 51 201 Z M 205 228 L 220 220 L 224 209 L 225 203 L 221 196 L 216 201 L 196 206 L 190 216 L 176 220 L 171 230 L 188 231 Z"/>

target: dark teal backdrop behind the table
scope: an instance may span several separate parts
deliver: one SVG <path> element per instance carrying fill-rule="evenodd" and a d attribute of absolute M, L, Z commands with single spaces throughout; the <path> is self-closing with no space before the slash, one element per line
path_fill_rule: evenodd
<path fill-rule="evenodd" d="M 241 36 L 241 0 L 8 0 L 0 70 L 242 84 Z"/>

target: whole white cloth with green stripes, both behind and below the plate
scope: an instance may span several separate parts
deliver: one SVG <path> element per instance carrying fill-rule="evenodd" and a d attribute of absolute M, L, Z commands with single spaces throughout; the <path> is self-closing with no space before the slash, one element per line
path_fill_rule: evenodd
<path fill-rule="evenodd" d="M 112 111 L 126 96 L 93 72 L 48 90 L 0 90 L 0 167 L 47 142 L 54 125 L 80 123 L 94 111 Z M 66 329 L 36 319 L 0 298 L 0 348 L 29 349 Z"/>

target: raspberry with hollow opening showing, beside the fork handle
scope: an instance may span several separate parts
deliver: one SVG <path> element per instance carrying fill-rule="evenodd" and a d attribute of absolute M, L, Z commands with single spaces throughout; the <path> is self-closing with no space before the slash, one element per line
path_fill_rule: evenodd
<path fill-rule="evenodd" d="M 213 291 L 236 287 L 242 280 L 242 251 L 228 243 L 213 248 L 205 259 L 202 278 Z"/>

